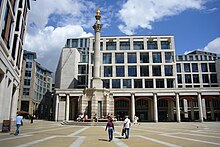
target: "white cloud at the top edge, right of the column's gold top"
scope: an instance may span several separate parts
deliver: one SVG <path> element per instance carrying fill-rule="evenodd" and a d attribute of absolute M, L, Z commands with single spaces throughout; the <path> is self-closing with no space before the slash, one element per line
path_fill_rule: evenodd
<path fill-rule="evenodd" d="M 207 0 L 127 0 L 118 16 L 119 29 L 132 35 L 138 28 L 152 29 L 152 23 L 164 17 L 178 15 L 187 9 L 203 9 Z"/>

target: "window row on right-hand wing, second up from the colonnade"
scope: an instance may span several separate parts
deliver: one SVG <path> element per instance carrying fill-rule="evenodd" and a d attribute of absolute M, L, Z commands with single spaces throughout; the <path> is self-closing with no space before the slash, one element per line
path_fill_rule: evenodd
<path fill-rule="evenodd" d="M 176 64 L 177 73 L 182 72 L 181 66 L 183 66 L 184 72 L 199 72 L 198 63 L 184 63 L 184 64 L 177 63 Z M 202 72 L 216 72 L 215 63 L 201 63 L 200 66 Z"/>

